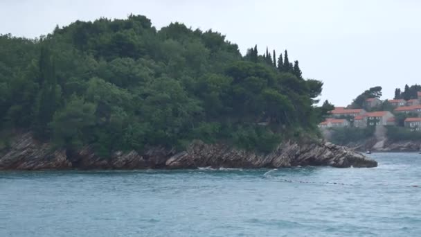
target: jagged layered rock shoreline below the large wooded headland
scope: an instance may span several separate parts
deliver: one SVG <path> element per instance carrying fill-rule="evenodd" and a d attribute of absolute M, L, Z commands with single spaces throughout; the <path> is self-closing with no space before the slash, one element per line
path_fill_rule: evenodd
<path fill-rule="evenodd" d="M 142 169 L 142 168 L 280 168 L 291 166 L 375 167 L 364 155 L 324 141 L 285 142 L 269 155 L 259 155 L 226 146 L 193 142 L 186 151 L 146 148 L 139 154 L 114 152 L 98 157 L 90 147 L 78 152 L 54 150 L 30 133 L 15 138 L 8 150 L 0 151 L 0 170 L 44 169 Z"/>

